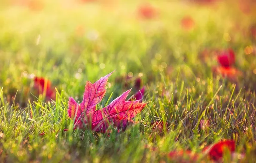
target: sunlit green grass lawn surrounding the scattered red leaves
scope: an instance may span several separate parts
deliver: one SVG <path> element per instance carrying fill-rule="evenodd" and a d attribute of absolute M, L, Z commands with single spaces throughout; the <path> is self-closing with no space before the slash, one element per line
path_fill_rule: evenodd
<path fill-rule="evenodd" d="M 223 139 L 237 155 L 221 161 L 255 162 L 255 4 L 195 1 L 147 1 L 145 18 L 139 0 L 1 0 L 0 162 L 175 162 L 170 151 L 201 153 Z M 232 78 L 213 72 L 227 48 L 240 72 Z M 68 97 L 81 102 L 86 81 L 113 70 L 98 109 L 134 94 L 136 78 L 149 103 L 125 131 L 72 130 Z M 54 100 L 37 94 L 35 76 L 52 82 Z M 155 121 L 168 125 L 159 133 Z"/>

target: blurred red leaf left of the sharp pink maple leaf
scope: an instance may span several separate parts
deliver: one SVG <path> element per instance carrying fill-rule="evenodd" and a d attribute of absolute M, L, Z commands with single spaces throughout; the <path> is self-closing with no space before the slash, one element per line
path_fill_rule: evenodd
<path fill-rule="evenodd" d="M 47 78 L 35 77 L 34 88 L 37 90 L 38 94 L 45 94 L 48 100 L 55 99 L 55 92 L 52 88 L 52 83 Z"/>

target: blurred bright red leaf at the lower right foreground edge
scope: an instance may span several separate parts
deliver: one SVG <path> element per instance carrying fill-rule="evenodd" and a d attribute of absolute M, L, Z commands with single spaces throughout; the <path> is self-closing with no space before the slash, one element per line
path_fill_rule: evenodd
<path fill-rule="evenodd" d="M 228 150 L 230 153 L 235 151 L 235 141 L 234 140 L 223 140 L 215 145 L 213 145 L 211 148 L 209 146 L 205 147 L 203 151 L 208 151 L 208 156 L 212 160 L 219 160 L 223 157 L 223 154 L 225 150 Z"/>

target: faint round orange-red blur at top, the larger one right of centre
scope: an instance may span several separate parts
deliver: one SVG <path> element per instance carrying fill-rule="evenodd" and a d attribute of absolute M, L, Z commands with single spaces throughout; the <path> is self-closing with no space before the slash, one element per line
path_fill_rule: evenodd
<path fill-rule="evenodd" d="M 144 19 L 152 19 L 156 16 L 156 9 L 150 4 L 143 4 L 139 7 L 139 15 Z"/>

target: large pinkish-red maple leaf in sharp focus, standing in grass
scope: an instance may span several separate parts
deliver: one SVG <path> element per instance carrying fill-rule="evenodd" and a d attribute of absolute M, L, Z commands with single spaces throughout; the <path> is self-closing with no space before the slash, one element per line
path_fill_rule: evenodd
<path fill-rule="evenodd" d="M 87 126 L 94 131 L 106 131 L 113 124 L 117 128 L 125 128 L 135 115 L 141 112 L 146 103 L 140 100 L 125 101 L 131 90 L 124 92 L 103 109 L 96 110 L 96 105 L 101 102 L 106 94 L 106 85 L 110 74 L 100 78 L 92 84 L 86 82 L 85 92 L 81 104 L 70 97 L 68 101 L 68 115 L 74 119 L 75 127 L 85 128 Z"/>

